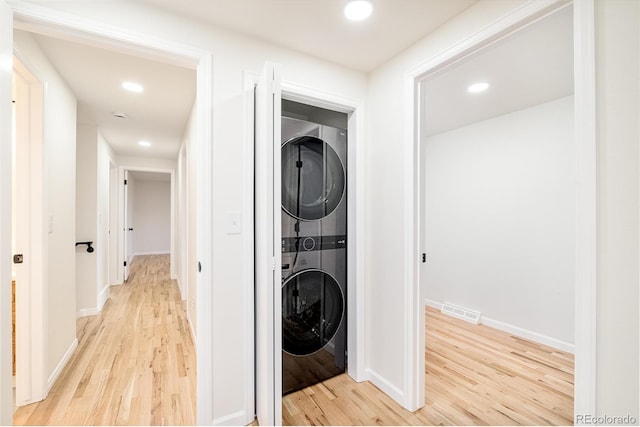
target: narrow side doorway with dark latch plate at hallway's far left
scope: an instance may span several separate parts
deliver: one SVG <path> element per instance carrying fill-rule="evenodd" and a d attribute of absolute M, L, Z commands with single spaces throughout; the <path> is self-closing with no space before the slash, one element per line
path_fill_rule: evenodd
<path fill-rule="evenodd" d="M 12 289 L 14 403 L 46 395 L 44 301 L 46 248 L 42 83 L 14 56 Z"/>

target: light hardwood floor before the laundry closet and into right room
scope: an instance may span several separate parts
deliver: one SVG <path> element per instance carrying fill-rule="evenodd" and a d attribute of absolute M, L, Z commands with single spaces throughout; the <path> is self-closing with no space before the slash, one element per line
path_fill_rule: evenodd
<path fill-rule="evenodd" d="M 573 355 L 427 309 L 426 406 L 347 375 L 283 398 L 285 425 L 571 425 Z"/>

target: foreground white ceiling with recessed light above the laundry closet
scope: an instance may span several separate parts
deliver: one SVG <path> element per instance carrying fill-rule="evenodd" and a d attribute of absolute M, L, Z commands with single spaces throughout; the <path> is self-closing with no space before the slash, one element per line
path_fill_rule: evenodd
<path fill-rule="evenodd" d="M 374 0 L 362 22 L 344 17 L 346 0 L 140 1 L 367 72 L 477 0 Z"/>

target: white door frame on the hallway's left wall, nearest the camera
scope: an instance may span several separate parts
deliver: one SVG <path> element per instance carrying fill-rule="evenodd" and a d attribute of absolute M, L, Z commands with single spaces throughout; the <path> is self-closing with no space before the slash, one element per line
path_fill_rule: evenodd
<path fill-rule="evenodd" d="M 48 394 L 48 380 L 45 372 L 46 334 L 45 319 L 47 306 L 46 259 L 46 180 L 44 178 L 44 86 L 37 77 L 37 70 L 28 64 L 20 52 L 14 49 L 13 71 L 27 86 L 24 96 L 24 110 L 16 108 L 16 117 L 22 120 L 25 129 L 26 153 L 17 162 L 27 163 L 29 176 L 16 184 L 20 192 L 26 194 L 29 205 L 28 242 L 25 247 L 26 275 L 28 280 L 16 281 L 16 395 L 17 406 L 39 402 Z M 21 144 L 16 141 L 16 144 Z M 17 147 L 16 147 L 16 151 Z M 23 150 L 24 151 L 24 150 Z M 16 164 L 21 167 L 20 164 Z M 16 175 L 18 178 L 19 175 Z"/>

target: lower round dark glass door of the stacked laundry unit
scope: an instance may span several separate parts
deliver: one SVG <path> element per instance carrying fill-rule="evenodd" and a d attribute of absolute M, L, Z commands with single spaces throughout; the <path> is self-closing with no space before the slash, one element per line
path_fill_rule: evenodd
<path fill-rule="evenodd" d="M 282 285 L 282 349 L 295 356 L 321 350 L 338 331 L 344 298 L 333 277 L 305 270 Z"/>

